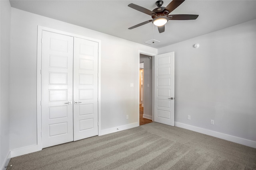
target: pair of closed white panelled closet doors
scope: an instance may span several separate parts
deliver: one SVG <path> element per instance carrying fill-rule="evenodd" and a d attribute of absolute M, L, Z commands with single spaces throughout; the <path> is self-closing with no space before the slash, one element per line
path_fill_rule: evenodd
<path fill-rule="evenodd" d="M 42 31 L 42 147 L 98 135 L 98 43 Z"/>

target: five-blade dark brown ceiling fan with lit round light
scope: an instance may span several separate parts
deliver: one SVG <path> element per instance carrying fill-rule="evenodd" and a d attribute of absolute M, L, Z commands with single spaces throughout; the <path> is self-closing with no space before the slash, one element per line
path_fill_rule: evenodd
<path fill-rule="evenodd" d="M 162 33 L 162 32 L 164 32 L 164 25 L 169 20 L 196 20 L 198 15 L 192 15 L 192 14 L 175 14 L 175 15 L 171 14 L 171 15 L 169 15 L 170 12 L 175 10 L 184 1 L 185 0 L 172 0 L 172 2 L 170 2 L 170 4 L 168 4 L 166 7 L 162 7 L 162 4 L 164 4 L 164 2 L 162 0 L 158 0 L 158 1 L 156 1 L 156 6 L 158 8 L 155 8 L 152 11 L 150 11 L 142 6 L 138 6 L 136 4 L 129 4 L 128 5 L 129 7 L 150 15 L 153 20 L 148 20 L 148 21 L 139 23 L 139 24 L 134 25 L 133 27 L 130 27 L 128 29 L 134 29 L 134 28 L 144 25 L 146 23 L 152 22 L 154 25 L 158 26 L 159 33 Z"/>

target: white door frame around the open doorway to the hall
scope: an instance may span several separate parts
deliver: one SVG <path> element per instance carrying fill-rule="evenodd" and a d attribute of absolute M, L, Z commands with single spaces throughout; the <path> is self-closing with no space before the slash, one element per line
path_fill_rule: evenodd
<path fill-rule="evenodd" d="M 140 78 L 140 54 L 148 55 L 152 57 L 152 121 L 154 121 L 154 56 L 157 55 L 156 53 L 150 53 L 147 51 L 138 51 L 138 78 Z M 138 81 L 138 126 L 140 126 L 140 82 Z"/>

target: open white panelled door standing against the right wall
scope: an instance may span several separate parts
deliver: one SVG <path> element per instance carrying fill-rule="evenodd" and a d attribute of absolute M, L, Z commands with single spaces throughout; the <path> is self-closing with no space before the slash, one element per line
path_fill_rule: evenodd
<path fill-rule="evenodd" d="M 154 57 L 154 121 L 174 126 L 174 52 Z"/>

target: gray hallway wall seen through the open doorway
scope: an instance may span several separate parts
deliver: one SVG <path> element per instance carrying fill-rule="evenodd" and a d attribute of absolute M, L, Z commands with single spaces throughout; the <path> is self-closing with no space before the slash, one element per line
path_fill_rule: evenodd
<path fill-rule="evenodd" d="M 143 95 L 143 117 L 152 119 L 152 59 L 148 55 L 140 54 L 140 63 L 144 63 L 144 95 Z"/>

